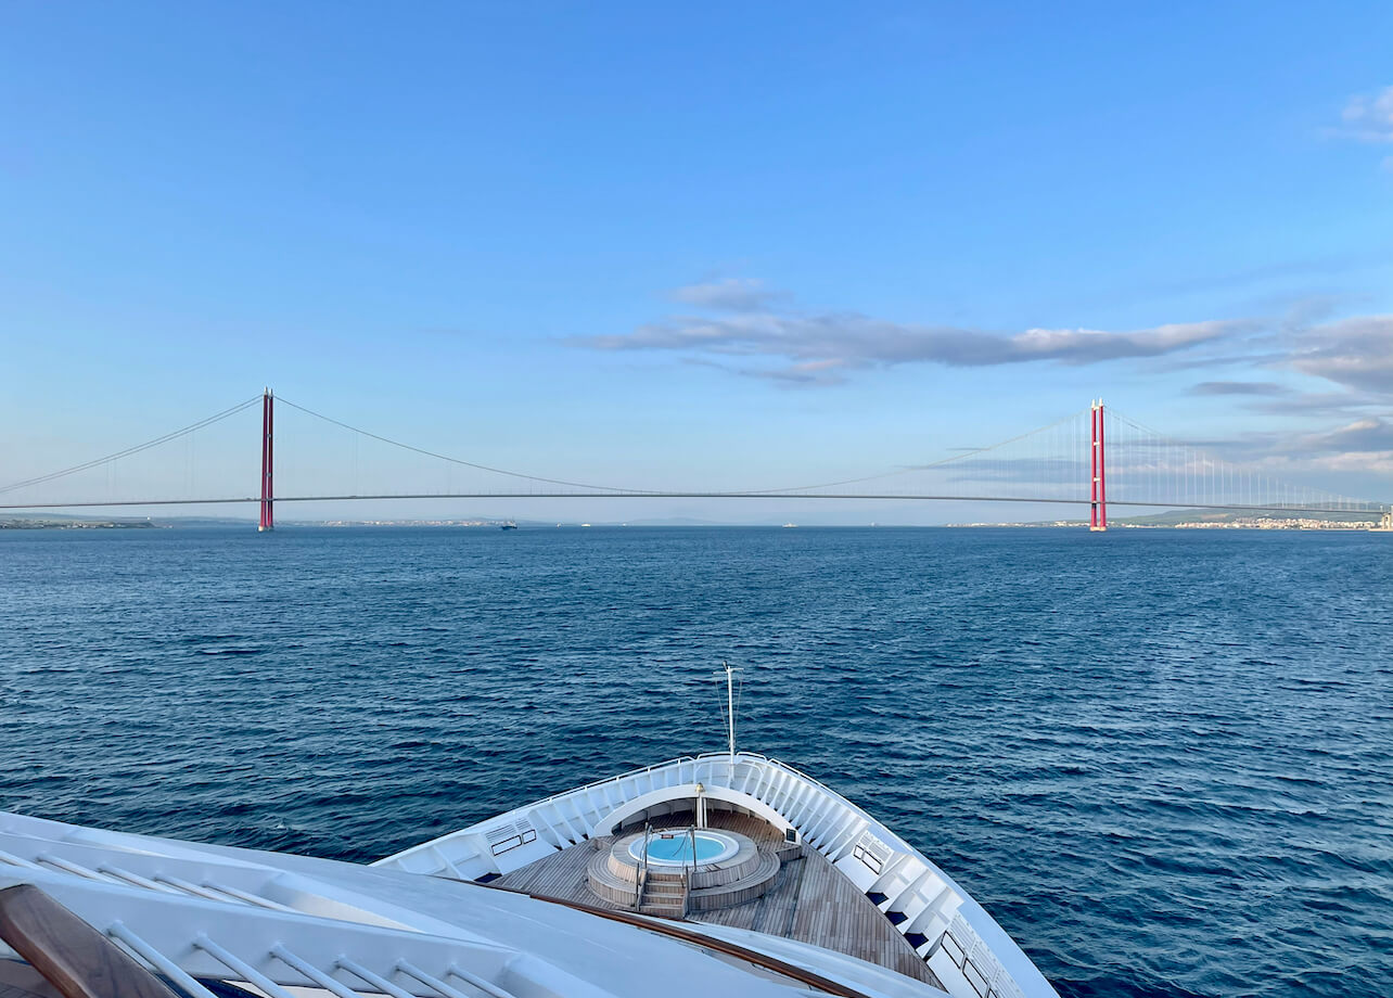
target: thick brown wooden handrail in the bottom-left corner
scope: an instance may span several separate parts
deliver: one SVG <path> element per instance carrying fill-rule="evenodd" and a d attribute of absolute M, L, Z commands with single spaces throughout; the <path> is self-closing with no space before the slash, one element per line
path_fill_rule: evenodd
<path fill-rule="evenodd" d="M 33 884 L 0 891 L 0 940 L 64 998 L 178 998 L 124 949 Z"/>

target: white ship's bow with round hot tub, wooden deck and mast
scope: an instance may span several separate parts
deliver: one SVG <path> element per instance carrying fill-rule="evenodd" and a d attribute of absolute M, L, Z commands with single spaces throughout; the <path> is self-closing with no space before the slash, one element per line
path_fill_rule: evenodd
<path fill-rule="evenodd" d="M 926 856 L 729 740 L 366 866 L 0 813 L 0 994 L 1057 998 Z"/>

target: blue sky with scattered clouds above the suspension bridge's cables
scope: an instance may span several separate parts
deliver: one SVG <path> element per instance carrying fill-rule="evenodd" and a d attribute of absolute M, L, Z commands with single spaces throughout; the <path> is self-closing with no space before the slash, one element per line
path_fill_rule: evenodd
<path fill-rule="evenodd" d="M 1103 395 L 1393 500 L 1390 38 L 1386 3 L 8 4 L 0 477 L 263 384 L 655 487 Z M 206 486 L 255 475 L 233 440 Z"/>

